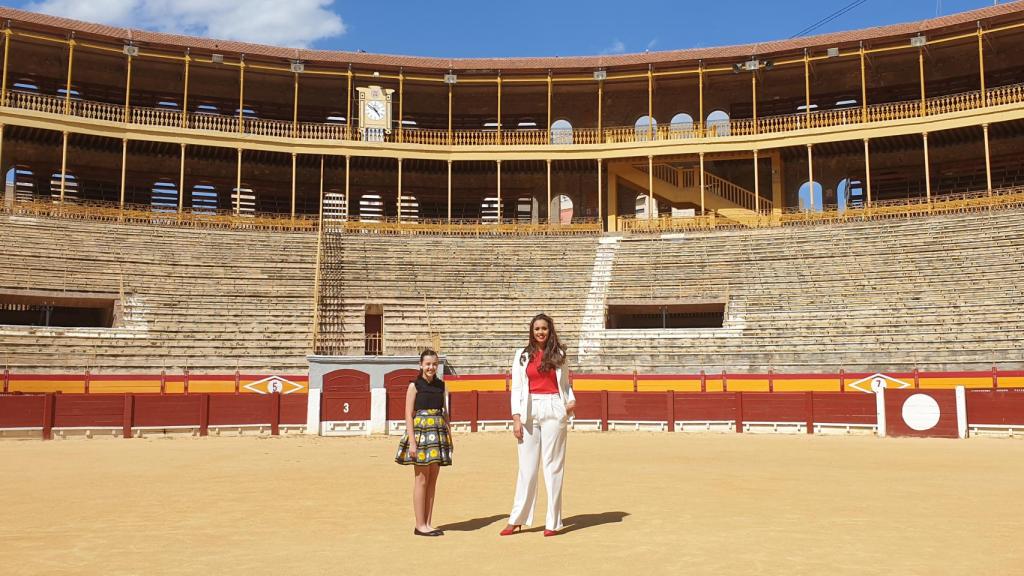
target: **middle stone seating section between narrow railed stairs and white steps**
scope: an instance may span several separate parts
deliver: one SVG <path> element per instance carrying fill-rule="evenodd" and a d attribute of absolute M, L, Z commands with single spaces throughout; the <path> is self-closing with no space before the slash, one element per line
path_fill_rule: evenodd
<path fill-rule="evenodd" d="M 361 354 L 366 304 L 381 304 L 387 355 L 439 340 L 459 373 L 506 371 L 543 312 L 574 356 L 595 238 L 325 238 L 322 353 Z"/>

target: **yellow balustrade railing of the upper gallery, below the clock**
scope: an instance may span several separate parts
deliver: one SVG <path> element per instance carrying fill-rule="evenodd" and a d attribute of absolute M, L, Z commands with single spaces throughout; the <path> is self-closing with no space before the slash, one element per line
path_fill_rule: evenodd
<path fill-rule="evenodd" d="M 805 130 L 808 128 L 828 128 L 851 126 L 864 122 L 882 123 L 894 120 L 953 114 L 981 108 L 1024 102 L 1024 84 L 1011 84 L 989 88 L 984 96 L 981 91 L 963 92 L 944 96 L 933 96 L 922 102 L 920 99 L 870 105 L 866 108 L 851 107 L 835 110 L 812 111 L 811 113 L 787 114 L 711 122 L 699 124 L 646 126 L 611 126 L 601 130 L 575 128 L 571 130 L 514 129 L 501 130 L 443 130 L 427 128 L 403 128 L 388 133 L 376 133 L 366 137 L 356 129 L 338 123 L 300 122 L 268 120 L 237 116 L 224 116 L 203 112 L 189 112 L 182 120 L 182 112 L 167 109 L 131 107 L 95 102 L 76 97 L 10 90 L 4 106 L 32 110 L 46 114 L 78 116 L 106 122 L 124 122 L 141 126 L 184 127 L 193 130 L 254 134 L 276 138 L 303 138 L 311 140 L 369 140 L 386 142 L 407 142 L 437 147 L 542 147 L 579 146 L 595 143 L 645 142 L 685 140 L 692 138 L 722 138 L 728 136 L 750 136 L 755 134 L 777 134 Z"/>

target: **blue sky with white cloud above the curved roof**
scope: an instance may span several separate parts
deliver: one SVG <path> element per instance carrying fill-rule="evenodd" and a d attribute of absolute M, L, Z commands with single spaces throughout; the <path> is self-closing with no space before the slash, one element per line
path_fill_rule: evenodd
<path fill-rule="evenodd" d="M 816 33 L 992 5 L 866 0 Z M 784 39 L 850 4 L 648 0 L 37 0 L 12 6 L 90 22 L 283 46 L 428 56 L 642 52 Z"/>

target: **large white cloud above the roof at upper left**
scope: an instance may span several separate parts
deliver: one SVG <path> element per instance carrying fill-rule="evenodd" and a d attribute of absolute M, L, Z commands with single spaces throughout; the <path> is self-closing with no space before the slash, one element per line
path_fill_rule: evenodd
<path fill-rule="evenodd" d="M 333 0 L 41 0 L 35 12 L 157 32 L 305 48 L 345 33 Z"/>

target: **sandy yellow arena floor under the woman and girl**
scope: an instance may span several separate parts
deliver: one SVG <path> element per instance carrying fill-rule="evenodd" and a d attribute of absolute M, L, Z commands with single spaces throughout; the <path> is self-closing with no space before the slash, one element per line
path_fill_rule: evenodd
<path fill-rule="evenodd" d="M 498 536 L 510 436 L 456 441 L 442 538 L 393 438 L 3 441 L 0 574 L 1024 574 L 1019 440 L 578 433 L 556 538 Z"/>

